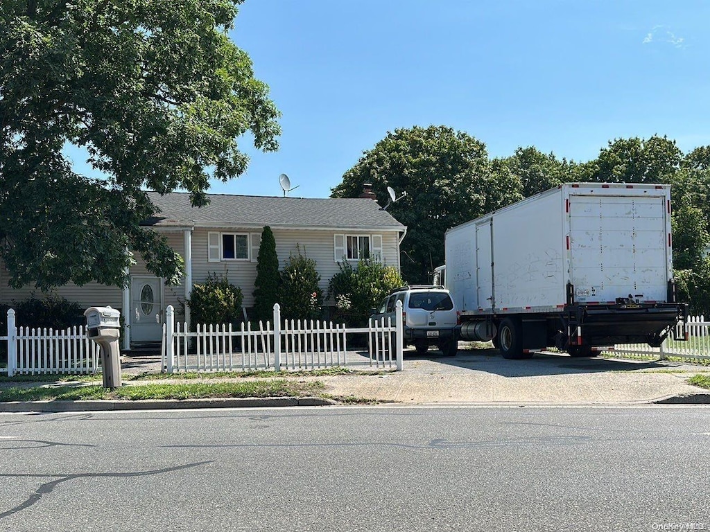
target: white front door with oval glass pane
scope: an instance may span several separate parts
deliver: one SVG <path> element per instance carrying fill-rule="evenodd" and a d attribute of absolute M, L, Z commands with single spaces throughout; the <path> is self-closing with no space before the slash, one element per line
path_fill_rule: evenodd
<path fill-rule="evenodd" d="M 163 282 L 148 275 L 131 276 L 131 341 L 158 341 L 163 334 Z"/>

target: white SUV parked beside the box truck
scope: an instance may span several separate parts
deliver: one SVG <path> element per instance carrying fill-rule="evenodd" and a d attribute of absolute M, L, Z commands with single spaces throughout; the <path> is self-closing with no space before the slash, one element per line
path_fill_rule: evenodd
<path fill-rule="evenodd" d="M 395 304 L 402 301 L 404 343 L 424 354 L 430 345 L 454 356 L 458 350 L 457 311 L 449 291 L 439 286 L 401 287 L 390 292 L 371 320 L 395 318 Z M 405 346 L 403 345 L 403 347 Z"/>

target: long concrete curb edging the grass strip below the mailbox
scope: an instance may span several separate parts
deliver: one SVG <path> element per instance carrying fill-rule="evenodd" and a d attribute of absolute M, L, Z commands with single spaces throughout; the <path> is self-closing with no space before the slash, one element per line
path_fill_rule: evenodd
<path fill-rule="evenodd" d="M 246 397 L 228 399 L 146 399 L 142 401 L 11 401 L 0 412 L 83 412 L 167 409 L 259 408 L 274 406 L 332 406 L 322 397 Z"/>

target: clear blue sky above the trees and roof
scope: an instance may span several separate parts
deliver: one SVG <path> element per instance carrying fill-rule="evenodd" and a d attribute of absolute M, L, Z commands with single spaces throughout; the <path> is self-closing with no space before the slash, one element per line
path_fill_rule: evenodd
<path fill-rule="evenodd" d="M 710 2 L 246 0 L 230 35 L 283 113 L 278 153 L 210 192 L 326 197 L 388 131 L 445 125 L 491 157 L 589 160 L 613 138 L 710 145 Z"/>

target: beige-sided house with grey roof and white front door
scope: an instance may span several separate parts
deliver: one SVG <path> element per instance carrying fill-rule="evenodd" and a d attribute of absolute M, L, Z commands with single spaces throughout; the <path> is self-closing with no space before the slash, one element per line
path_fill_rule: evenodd
<path fill-rule="evenodd" d="M 160 340 L 165 307 L 172 305 L 181 313 L 181 303 L 190 296 L 192 286 L 204 282 L 210 272 L 226 274 L 229 282 L 241 287 L 243 306 L 253 306 L 256 256 L 264 226 L 273 231 L 280 266 L 299 246 L 317 262 L 323 289 L 339 272 L 338 262 L 356 262 L 364 253 L 400 267 L 400 242 L 406 227 L 368 199 L 371 196 L 307 199 L 209 194 L 209 205 L 195 208 L 190 205 L 190 194 L 149 195 L 160 213 L 143 225 L 165 235 L 185 259 L 182 282 L 166 286 L 163 279 L 146 270 L 141 257 L 136 257 L 126 289 L 97 283 L 55 289 L 58 296 L 81 306 L 121 309 L 126 349 L 131 342 Z M 31 287 L 10 289 L 8 273 L 0 270 L 0 302 L 33 295 Z M 190 321 L 189 309 L 182 318 Z"/>

